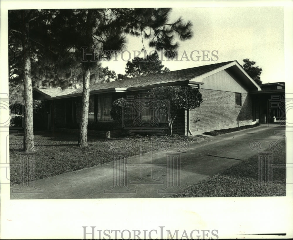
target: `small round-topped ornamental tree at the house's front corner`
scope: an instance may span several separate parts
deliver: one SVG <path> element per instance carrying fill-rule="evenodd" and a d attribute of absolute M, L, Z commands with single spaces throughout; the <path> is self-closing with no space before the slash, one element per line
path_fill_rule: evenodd
<path fill-rule="evenodd" d="M 165 100 L 168 100 L 169 107 L 158 110 L 161 115 L 166 116 L 171 135 L 173 135 L 172 125 L 178 113 L 182 110 L 198 108 L 202 103 L 201 93 L 195 88 L 186 86 L 161 86 L 149 90 L 149 93 L 152 93 L 155 98 L 160 99 L 163 96 Z"/>

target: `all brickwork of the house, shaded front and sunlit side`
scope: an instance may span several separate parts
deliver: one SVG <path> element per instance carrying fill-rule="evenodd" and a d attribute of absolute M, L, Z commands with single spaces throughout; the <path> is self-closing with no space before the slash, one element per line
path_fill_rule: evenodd
<path fill-rule="evenodd" d="M 241 93 L 241 106 L 235 105 L 235 93 L 220 90 L 209 90 L 200 89 L 202 94 L 203 103 L 199 108 L 190 110 L 190 130 L 192 135 L 200 134 L 205 131 L 212 131 L 215 129 L 223 129 L 230 127 L 238 127 L 243 125 L 253 124 L 253 110 L 252 104 L 253 100 L 251 96 L 247 93 Z M 134 95 L 137 97 L 138 91 L 127 93 L 127 95 Z M 118 97 L 126 97 L 126 94 L 113 94 L 113 100 Z M 66 101 L 72 100 L 74 106 L 76 106 L 76 124 L 68 124 L 66 122 Z M 58 128 L 74 128 L 78 126 L 80 122 L 81 115 L 81 98 L 68 98 L 53 101 L 53 127 Z M 256 121 L 258 121 L 258 108 L 255 108 Z M 131 128 L 133 125 L 132 113 L 129 111 L 129 119 L 125 117 L 126 122 L 129 127 L 126 127 L 126 131 L 154 131 L 154 132 L 164 132 L 169 134 L 169 129 L 166 127 L 160 127 L 160 125 L 155 127 L 135 127 Z M 195 122 L 198 119 L 200 121 Z M 118 122 L 88 122 L 89 130 L 97 129 L 121 129 L 121 125 Z M 187 114 L 186 111 L 180 111 L 173 122 L 173 134 L 186 135 L 187 133 Z M 115 132 L 115 136 L 116 136 Z M 113 136 L 113 135 L 112 135 Z"/>

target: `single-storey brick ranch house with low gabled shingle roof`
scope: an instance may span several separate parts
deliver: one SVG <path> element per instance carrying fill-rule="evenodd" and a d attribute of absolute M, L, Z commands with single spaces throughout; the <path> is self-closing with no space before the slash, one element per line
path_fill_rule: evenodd
<path fill-rule="evenodd" d="M 163 85 L 190 86 L 197 88 L 202 94 L 203 103 L 199 108 L 178 113 L 173 123 L 173 133 L 184 135 L 189 131 L 189 134 L 196 135 L 259 122 L 259 97 L 251 93 L 260 92 L 261 88 L 237 61 L 229 61 L 91 85 L 88 129 L 121 128 L 110 116 L 113 101 L 122 97 L 139 100 L 142 93 Z M 82 89 L 55 96 L 49 93 L 52 89 L 47 90 L 38 88 L 35 91 L 45 96 L 44 101 L 50 112 L 50 127 L 55 130 L 77 129 L 81 115 Z M 141 111 L 140 117 L 147 122 L 151 114 L 150 110 Z M 127 121 L 133 122 L 133 119 L 125 119 Z M 166 120 L 160 118 L 158 121 L 156 130 L 166 132 Z M 128 125 L 128 130 L 131 130 L 129 126 L 131 124 Z M 143 131 L 147 128 L 147 125 L 142 124 L 134 130 Z"/>

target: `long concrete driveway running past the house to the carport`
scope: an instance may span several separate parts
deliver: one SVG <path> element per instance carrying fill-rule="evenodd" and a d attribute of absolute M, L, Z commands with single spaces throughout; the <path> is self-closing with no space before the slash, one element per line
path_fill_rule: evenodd
<path fill-rule="evenodd" d="M 253 139 L 258 139 L 264 150 L 271 140 L 285 139 L 285 129 L 259 126 L 127 161 L 123 160 L 125 153 L 117 153 L 118 160 L 110 163 L 40 179 L 34 187 L 13 186 L 11 199 L 168 197 L 257 154 L 249 147 Z"/>

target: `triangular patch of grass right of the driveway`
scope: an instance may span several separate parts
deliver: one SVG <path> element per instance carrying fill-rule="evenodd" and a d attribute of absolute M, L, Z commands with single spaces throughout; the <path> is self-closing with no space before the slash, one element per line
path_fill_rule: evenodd
<path fill-rule="evenodd" d="M 285 163 L 285 140 L 279 151 L 273 152 L 272 163 Z M 258 155 L 190 186 L 175 197 L 266 197 L 286 196 L 286 172 L 284 168 L 272 169 L 272 184 L 258 181 Z M 282 181 L 275 183 L 275 181 Z"/>

